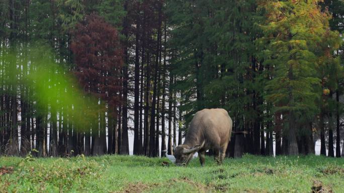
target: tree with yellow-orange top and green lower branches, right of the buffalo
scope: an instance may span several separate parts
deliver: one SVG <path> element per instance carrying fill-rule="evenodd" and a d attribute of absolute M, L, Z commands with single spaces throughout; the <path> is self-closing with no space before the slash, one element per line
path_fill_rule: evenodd
<path fill-rule="evenodd" d="M 274 66 L 273 79 L 266 89 L 268 102 L 274 104 L 274 111 L 285 113 L 288 153 L 299 153 L 297 144 L 297 123 L 299 117 L 317 113 L 316 99 L 320 78 L 316 68 L 319 61 L 318 45 L 330 37 L 327 50 L 338 47 L 338 36 L 329 31 L 328 12 L 321 12 L 318 1 L 266 1 L 261 8 L 266 10 L 267 25 L 262 25 L 267 44 L 265 65 Z M 319 56 L 320 55 L 320 56 Z M 285 119 L 285 118 L 283 118 Z"/>

